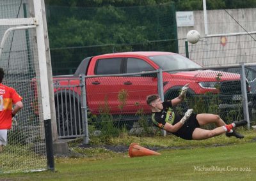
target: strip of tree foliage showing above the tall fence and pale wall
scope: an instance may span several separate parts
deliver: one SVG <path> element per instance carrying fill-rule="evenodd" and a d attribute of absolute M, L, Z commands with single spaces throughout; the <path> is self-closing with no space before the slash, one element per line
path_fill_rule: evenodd
<path fill-rule="evenodd" d="M 45 0 L 50 6 L 100 7 L 100 6 L 147 6 L 174 2 L 178 10 L 202 10 L 203 0 Z M 256 0 L 206 0 L 208 10 L 223 8 L 253 8 Z"/>

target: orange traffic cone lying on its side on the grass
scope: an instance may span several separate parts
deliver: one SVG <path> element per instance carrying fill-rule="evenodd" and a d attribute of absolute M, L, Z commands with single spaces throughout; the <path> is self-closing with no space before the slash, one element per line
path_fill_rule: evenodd
<path fill-rule="evenodd" d="M 141 147 L 138 143 L 132 143 L 129 147 L 129 156 L 130 157 L 141 157 L 141 156 L 159 156 L 161 154 L 149 150 L 147 148 Z"/>

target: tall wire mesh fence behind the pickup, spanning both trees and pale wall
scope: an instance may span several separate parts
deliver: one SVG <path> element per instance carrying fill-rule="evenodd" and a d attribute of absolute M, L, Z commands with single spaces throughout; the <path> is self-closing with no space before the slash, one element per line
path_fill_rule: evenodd
<path fill-rule="evenodd" d="M 248 4 L 252 8 L 248 8 Z M 247 9 L 232 9 L 244 7 Z M 206 38 L 202 4 L 190 7 L 180 1 L 162 4 L 160 1 L 158 4 L 148 1 L 75 1 L 73 4 L 49 1 L 46 9 L 53 74 L 72 74 L 84 57 L 109 52 L 166 51 L 185 55 L 183 39 L 191 29 L 202 36 L 196 45 L 189 45 L 191 59 L 199 64 L 228 66 L 253 62 L 255 33 L 246 32 L 256 28 L 252 18 L 255 17 L 255 4 L 225 1 L 214 10 L 216 8 L 207 4 L 208 35 L 245 34 Z M 177 26 L 175 13 L 190 10 L 194 25 Z"/>

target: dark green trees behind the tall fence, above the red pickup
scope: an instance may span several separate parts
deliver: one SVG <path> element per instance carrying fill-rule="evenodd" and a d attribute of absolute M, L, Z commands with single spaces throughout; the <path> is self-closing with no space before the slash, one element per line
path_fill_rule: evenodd
<path fill-rule="evenodd" d="M 203 9 L 202 0 L 45 0 L 54 66 L 73 70 L 89 55 L 177 51 L 175 11 Z M 256 0 L 207 0 L 207 10 L 252 8 Z M 68 65 L 68 66 L 70 66 Z M 62 74 L 62 73 L 61 73 Z"/>

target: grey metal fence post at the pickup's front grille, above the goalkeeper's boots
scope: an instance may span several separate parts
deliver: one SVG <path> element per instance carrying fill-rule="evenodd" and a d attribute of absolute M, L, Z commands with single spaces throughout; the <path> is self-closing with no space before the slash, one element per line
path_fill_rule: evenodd
<path fill-rule="evenodd" d="M 248 110 L 248 99 L 247 99 L 247 90 L 246 90 L 246 76 L 244 71 L 244 63 L 242 63 L 242 72 L 241 72 L 241 91 L 243 95 L 243 113 L 244 119 L 247 120 L 248 124 L 247 127 L 250 129 L 250 116 Z"/>

